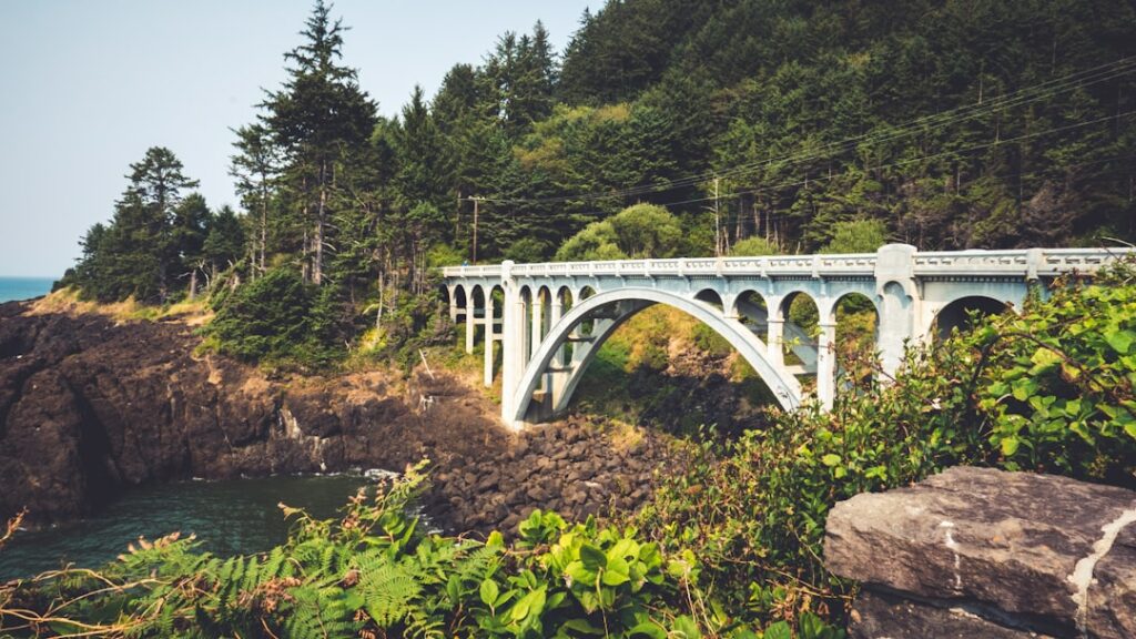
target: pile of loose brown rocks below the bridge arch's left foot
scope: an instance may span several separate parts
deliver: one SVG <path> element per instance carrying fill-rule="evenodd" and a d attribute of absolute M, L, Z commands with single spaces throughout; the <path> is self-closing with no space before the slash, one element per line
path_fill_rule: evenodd
<path fill-rule="evenodd" d="M 638 508 L 680 456 L 665 437 L 575 420 L 518 433 L 433 475 L 426 511 L 453 531 L 516 532 L 535 509 L 565 517 Z"/>

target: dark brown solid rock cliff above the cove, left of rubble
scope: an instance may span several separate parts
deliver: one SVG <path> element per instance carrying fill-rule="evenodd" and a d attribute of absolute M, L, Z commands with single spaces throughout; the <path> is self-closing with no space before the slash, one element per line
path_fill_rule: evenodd
<path fill-rule="evenodd" d="M 133 486 L 444 464 L 502 431 L 456 380 L 269 379 L 182 323 L 0 306 L 0 516 L 98 509 Z M 435 397 L 419 412 L 419 395 Z"/>

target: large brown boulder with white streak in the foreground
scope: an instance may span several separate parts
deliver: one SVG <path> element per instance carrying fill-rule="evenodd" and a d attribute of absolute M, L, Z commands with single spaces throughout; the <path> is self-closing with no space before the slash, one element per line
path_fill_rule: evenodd
<path fill-rule="evenodd" d="M 826 531 L 828 570 L 869 594 L 853 637 L 967 636 L 976 620 L 1022 637 L 1136 637 L 1136 492 L 957 467 L 842 501 Z M 905 631 L 904 616 L 941 630 Z"/>

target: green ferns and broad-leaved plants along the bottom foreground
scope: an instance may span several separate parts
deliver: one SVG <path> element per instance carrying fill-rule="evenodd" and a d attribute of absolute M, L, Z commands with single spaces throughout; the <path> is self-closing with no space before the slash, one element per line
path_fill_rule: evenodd
<path fill-rule="evenodd" d="M 0 631 L 89 637 L 761 637 L 707 607 L 690 553 L 665 556 L 634 529 L 535 511 L 507 546 L 424 534 L 409 470 L 339 521 L 294 518 L 287 542 L 215 557 L 193 538 L 140 539 L 101 572 L 0 586 Z M 785 623 L 768 639 L 788 639 Z M 815 616 L 802 639 L 843 634 Z"/>

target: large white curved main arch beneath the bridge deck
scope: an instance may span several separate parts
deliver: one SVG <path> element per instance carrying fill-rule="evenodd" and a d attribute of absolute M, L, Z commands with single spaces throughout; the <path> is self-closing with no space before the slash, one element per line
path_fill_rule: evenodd
<path fill-rule="evenodd" d="M 768 348 L 736 317 L 727 317 L 716 305 L 658 289 L 623 288 L 596 293 L 576 304 L 550 326 L 540 345 L 533 345 L 507 415 L 513 423 L 536 422 L 567 409 L 584 372 L 603 342 L 637 313 L 661 304 L 676 308 L 707 324 L 730 343 L 761 376 L 784 408 L 801 403 L 801 385 L 783 366 L 768 358 Z M 588 334 L 582 333 L 586 322 Z M 568 356 L 567 346 L 573 350 Z"/>

